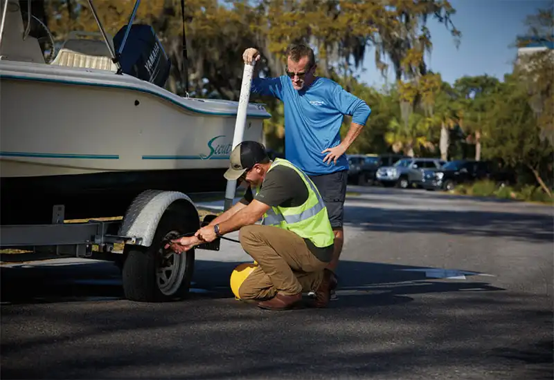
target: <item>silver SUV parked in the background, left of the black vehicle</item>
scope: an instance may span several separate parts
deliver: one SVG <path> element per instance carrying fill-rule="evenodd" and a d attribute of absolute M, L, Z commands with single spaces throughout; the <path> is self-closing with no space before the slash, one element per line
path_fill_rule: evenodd
<path fill-rule="evenodd" d="M 403 158 L 391 167 L 380 167 L 375 176 L 384 186 L 396 185 L 406 189 L 413 185 L 421 186 L 423 170 L 440 169 L 445 163 L 445 160 L 439 158 Z"/>

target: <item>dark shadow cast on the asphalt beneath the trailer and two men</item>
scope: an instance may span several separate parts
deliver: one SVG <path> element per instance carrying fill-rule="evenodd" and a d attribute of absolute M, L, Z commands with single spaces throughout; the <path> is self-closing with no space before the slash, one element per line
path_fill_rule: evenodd
<path fill-rule="evenodd" d="M 190 291 L 191 300 L 202 298 L 234 298 L 229 278 L 239 262 L 214 262 L 196 260 L 195 275 Z M 10 303 L 58 303 L 71 301 L 112 301 L 123 299 L 121 276 L 115 265 L 109 262 L 83 263 L 79 265 L 21 264 L 1 267 L 1 302 Z M 464 289 L 496 291 L 483 281 L 431 281 L 443 278 L 453 280 L 479 276 L 477 272 L 458 269 L 410 267 L 382 263 L 361 263 L 342 260 L 339 267 L 341 299 L 359 296 L 387 298 L 431 292 L 458 292 Z M 482 277 L 481 279 L 486 278 Z M 361 298 L 355 302 L 364 302 Z M 369 302 L 373 302 L 369 300 Z M 381 301 L 383 302 L 383 301 Z M 341 303 L 342 305 L 343 303 Z"/>

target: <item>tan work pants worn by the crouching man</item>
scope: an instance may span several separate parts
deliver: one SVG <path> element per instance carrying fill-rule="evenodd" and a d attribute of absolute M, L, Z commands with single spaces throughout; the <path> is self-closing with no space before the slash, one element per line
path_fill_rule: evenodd
<path fill-rule="evenodd" d="M 249 225 L 240 229 L 240 244 L 258 267 L 240 285 L 241 299 L 292 296 L 316 291 L 328 265 L 308 249 L 304 239 L 279 227 Z"/>

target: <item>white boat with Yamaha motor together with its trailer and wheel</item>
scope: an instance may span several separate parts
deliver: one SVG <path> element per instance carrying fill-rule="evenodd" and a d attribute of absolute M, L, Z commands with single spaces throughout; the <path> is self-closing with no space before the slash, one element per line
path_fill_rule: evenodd
<path fill-rule="evenodd" d="M 46 59 L 31 20 L 55 46 L 52 35 L 21 3 L 0 0 L 0 248 L 113 260 L 127 299 L 184 298 L 195 249 L 220 240 L 164 246 L 201 226 L 195 194 L 225 191 L 229 204 L 233 146 L 262 140 L 271 115 L 249 104 L 253 66 L 238 102 L 180 97 L 164 88 L 170 60 L 154 30 L 134 23 L 139 0 L 113 38 L 88 0 L 100 32 L 72 32 Z"/>

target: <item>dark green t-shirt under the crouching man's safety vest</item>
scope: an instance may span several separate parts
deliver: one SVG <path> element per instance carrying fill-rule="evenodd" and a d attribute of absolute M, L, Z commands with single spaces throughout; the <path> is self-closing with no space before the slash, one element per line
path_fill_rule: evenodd
<path fill-rule="evenodd" d="M 271 207 L 298 207 L 306 202 L 308 194 L 304 181 L 294 169 L 278 165 L 267 172 L 260 192 L 256 196 L 253 196 L 251 187 L 248 187 L 240 202 L 249 205 L 253 199 L 256 199 Z M 319 248 L 309 239 L 304 241 L 316 258 L 325 263 L 331 260 L 333 245 Z"/>

